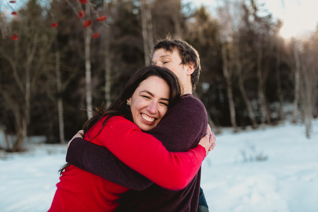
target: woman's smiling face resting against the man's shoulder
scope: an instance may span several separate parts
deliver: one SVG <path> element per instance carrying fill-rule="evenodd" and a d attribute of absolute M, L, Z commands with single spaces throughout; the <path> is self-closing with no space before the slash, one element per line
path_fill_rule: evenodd
<path fill-rule="evenodd" d="M 167 113 L 170 88 L 168 83 L 156 76 L 143 80 L 127 100 L 134 123 L 143 131 L 156 127 Z"/>

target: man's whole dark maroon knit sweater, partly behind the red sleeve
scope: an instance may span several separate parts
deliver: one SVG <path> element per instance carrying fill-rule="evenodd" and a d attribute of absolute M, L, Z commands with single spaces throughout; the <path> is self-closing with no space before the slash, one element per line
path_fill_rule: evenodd
<path fill-rule="evenodd" d="M 184 95 L 149 133 L 171 152 L 197 146 L 205 135 L 207 114 L 202 102 Z M 67 150 L 66 161 L 93 174 L 131 188 L 120 199 L 118 211 L 197 211 L 201 168 L 182 190 L 164 189 L 138 174 L 106 148 L 77 138 Z"/>

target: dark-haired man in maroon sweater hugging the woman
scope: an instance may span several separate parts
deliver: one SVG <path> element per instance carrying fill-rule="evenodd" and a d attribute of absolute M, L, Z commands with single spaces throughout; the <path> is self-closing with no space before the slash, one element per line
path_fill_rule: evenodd
<path fill-rule="evenodd" d="M 197 146 L 207 131 L 207 114 L 202 102 L 192 96 L 200 76 L 200 59 L 197 51 L 182 40 L 166 38 L 154 46 L 152 64 L 165 66 L 183 83 L 184 95 L 171 108 L 157 127 L 149 133 L 162 141 L 171 152 L 184 152 Z M 213 134 L 213 144 L 215 137 Z M 106 148 L 93 145 L 80 138 L 68 148 L 66 161 L 98 174 L 109 181 L 131 188 L 120 200 L 118 211 L 204 211 L 206 204 L 200 192 L 201 169 L 190 184 L 181 190 L 161 188 L 128 168 Z M 103 165 L 105 164 L 105 165 Z"/>

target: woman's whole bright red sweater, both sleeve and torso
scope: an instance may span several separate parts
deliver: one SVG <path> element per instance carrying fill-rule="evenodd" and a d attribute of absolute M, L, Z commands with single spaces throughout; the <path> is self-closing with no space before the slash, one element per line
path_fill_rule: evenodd
<path fill-rule="evenodd" d="M 151 181 L 167 189 L 182 189 L 197 174 L 205 157 L 204 147 L 198 145 L 183 153 L 169 152 L 155 137 L 120 116 L 110 118 L 100 132 L 105 118 L 84 139 L 107 147 Z M 73 165 L 65 169 L 56 186 L 49 211 L 113 211 L 121 194 L 129 190 Z"/>

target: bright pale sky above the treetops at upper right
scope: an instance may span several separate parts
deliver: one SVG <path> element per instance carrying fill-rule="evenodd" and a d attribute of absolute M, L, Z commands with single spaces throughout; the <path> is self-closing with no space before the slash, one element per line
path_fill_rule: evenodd
<path fill-rule="evenodd" d="M 221 5 L 222 0 L 183 0 L 196 6 L 207 6 L 210 11 Z M 273 14 L 274 19 L 284 22 L 280 34 L 284 38 L 300 36 L 308 31 L 316 31 L 318 24 L 318 1 L 312 0 L 259 0 Z"/>

